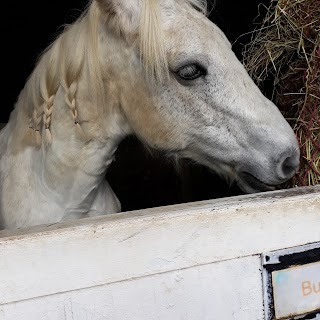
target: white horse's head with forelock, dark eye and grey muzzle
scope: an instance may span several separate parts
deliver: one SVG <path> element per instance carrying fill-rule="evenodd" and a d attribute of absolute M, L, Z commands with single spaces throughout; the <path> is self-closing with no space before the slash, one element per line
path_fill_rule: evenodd
<path fill-rule="evenodd" d="M 133 132 L 245 192 L 272 190 L 299 165 L 293 130 L 236 58 L 201 1 L 96 0 L 123 50 L 112 73 Z"/>

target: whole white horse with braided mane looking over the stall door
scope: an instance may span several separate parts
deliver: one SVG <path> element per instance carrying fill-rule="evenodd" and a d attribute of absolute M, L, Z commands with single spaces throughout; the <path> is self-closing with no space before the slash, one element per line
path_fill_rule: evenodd
<path fill-rule="evenodd" d="M 245 192 L 299 165 L 296 137 L 202 0 L 92 0 L 41 55 L 0 132 L 2 228 L 120 211 L 121 140 L 191 158 Z"/>

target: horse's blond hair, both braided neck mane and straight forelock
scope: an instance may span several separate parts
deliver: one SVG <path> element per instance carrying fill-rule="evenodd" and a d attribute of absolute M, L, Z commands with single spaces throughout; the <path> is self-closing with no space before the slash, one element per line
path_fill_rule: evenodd
<path fill-rule="evenodd" d="M 205 0 L 178 1 L 207 14 Z M 163 81 L 168 77 L 159 2 L 160 0 L 142 0 L 138 29 L 140 57 L 146 76 L 155 81 Z M 51 115 L 60 86 L 64 90 L 65 102 L 70 108 L 77 132 L 84 137 L 76 107 L 77 82 L 86 61 L 90 92 L 93 99 L 96 99 L 96 105 L 102 108 L 105 89 L 98 52 L 98 29 L 103 15 L 105 13 L 101 12 L 97 2 L 91 0 L 81 16 L 74 23 L 65 25 L 63 32 L 39 55 L 36 68 L 16 104 L 16 108 L 24 108 L 22 115 L 16 115 L 17 121 L 25 123 L 25 116 L 29 119 L 27 134 L 25 130 L 21 131 L 25 128 L 23 123 L 17 125 L 17 130 L 20 130 L 16 134 L 17 139 L 31 144 L 35 141 L 37 146 L 41 146 L 42 132 L 45 130 L 45 141 L 51 143 Z M 121 33 L 121 30 L 118 31 Z"/>

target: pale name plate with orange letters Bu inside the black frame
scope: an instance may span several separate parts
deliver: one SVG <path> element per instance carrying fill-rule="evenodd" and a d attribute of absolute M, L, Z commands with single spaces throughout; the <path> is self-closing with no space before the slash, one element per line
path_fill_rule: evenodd
<path fill-rule="evenodd" d="M 320 262 L 271 273 L 276 319 L 320 310 Z"/>

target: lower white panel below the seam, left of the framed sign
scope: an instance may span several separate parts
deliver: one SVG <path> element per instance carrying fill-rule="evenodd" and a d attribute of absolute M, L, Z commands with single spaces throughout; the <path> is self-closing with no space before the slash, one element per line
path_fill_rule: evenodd
<path fill-rule="evenodd" d="M 253 256 L 10 303 L 0 319 L 263 319 L 259 265 Z"/>

